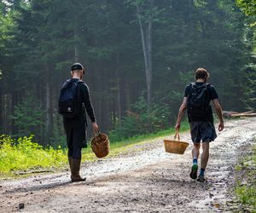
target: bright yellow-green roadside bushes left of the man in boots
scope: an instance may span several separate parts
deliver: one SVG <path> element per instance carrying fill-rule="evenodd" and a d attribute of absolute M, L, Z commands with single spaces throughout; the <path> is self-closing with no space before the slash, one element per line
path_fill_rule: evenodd
<path fill-rule="evenodd" d="M 38 170 L 60 167 L 67 163 L 66 151 L 61 147 L 42 147 L 29 137 L 18 140 L 8 135 L 0 135 L 0 174 L 10 174 L 16 170 Z"/>

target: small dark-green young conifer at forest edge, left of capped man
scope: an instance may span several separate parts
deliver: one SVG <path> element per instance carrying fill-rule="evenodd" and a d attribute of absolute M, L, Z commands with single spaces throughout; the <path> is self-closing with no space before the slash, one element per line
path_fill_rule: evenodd
<path fill-rule="evenodd" d="M 42 130 L 44 110 L 33 95 L 26 95 L 22 101 L 15 106 L 14 114 L 11 116 L 15 126 L 18 127 L 19 135 L 31 135 Z"/>

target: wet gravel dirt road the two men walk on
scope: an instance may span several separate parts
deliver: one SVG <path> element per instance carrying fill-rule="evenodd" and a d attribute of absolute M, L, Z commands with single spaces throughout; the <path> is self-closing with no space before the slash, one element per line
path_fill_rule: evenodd
<path fill-rule="evenodd" d="M 135 156 L 84 164 L 84 183 L 70 183 L 68 172 L 2 181 L 0 212 L 17 211 L 20 203 L 24 212 L 230 212 L 237 153 L 253 142 L 256 118 L 225 127 L 211 144 L 207 183 L 189 178 L 191 145 L 181 156 L 164 153 L 158 140 Z"/>

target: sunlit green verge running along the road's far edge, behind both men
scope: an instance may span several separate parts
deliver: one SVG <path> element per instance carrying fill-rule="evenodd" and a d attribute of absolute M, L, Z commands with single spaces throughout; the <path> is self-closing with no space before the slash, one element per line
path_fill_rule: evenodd
<path fill-rule="evenodd" d="M 182 131 L 189 130 L 189 124 L 183 123 Z M 172 135 L 175 130 L 161 130 L 157 133 L 137 135 L 123 141 L 111 142 L 111 152 L 108 158 L 124 155 L 131 149 L 139 152 L 140 146 L 150 143 L 153 139 Z M 67 167 L 66 147 L 43 147 L 29 137 L 11 138 L 9 135 L 0 135 L 0 176 L 15 176 L 20 171 L 30 173 L 40 170 L 64 169 Z M 90 142 L 90 141 L 88 141 Z M 96 161 L 90 146 L 83 149 L 83 162 Z"/>

